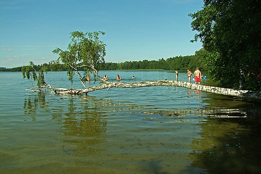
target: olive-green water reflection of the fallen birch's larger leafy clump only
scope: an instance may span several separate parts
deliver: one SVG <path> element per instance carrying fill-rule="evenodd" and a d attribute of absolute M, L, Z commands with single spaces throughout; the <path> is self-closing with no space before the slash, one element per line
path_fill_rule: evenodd
<path fill-rule="evenodd" d="M 74 104 L 74 97 L 69 99 L 67 116 L 64 118 L 61 132 L 66 136 L 77 136 L 77 139 L 63 140 L 77 144 L 76 156 L 100 154 L 106 148 L 101 148 L 101 143 L 106 142 L 103 135 L 106 132 L 106 114 L 101 108 L 106 105 L 104 100 L 95 100 L 93 97 L 81 96 L 80 104 Z M 79 104 L 79 103 L 78 103 Z"/>

